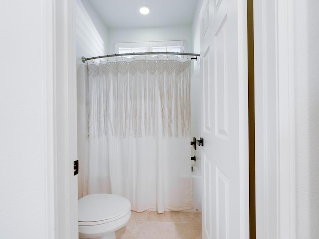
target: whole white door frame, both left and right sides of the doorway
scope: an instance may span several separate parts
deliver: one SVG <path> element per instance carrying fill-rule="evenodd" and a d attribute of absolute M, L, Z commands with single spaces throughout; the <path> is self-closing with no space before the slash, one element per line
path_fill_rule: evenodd
<path fill-rule="evenodd" d="M 261 1 L 261 0 L 260 0 Z M 254 7 L 254 25 L 255 29 L 264 29 L 265 21 L 262 17 L 267 15 L 276 14 L 276 66 L 277 66 L 277 78 L 276 89 L 272 92 L 276 96 L 276 124 L 273 125 L 276 128 L 276 140 L 279 145 L 276 148 L 267 148 L 266 151 L 256 151 L 256 175 L 263 175 L 263 177 L 256 178 L 256 231 L 257 235 L 260 235 L 260 239 L 267 238 L 267 230 L 273 229 L 277 238 L 295 238 L 295 124 L 294 124 L 294 57 L 293 57 L 293 3 L 289 0 L 274 0 L 276 5 L 276 12 L 267 12 L 267 8 L 260 9 Z M 254 1 L 257 2 L 256 0 Z M 265 2 L 265 0 L 263 1 Z M 57 7 L 57 3 L 61 4 L 61 7 Z M 77 187 L 74 186 L 74 178 L 71 177 L 70 172 L 73 172 L 72 160 L 69 160 L 67 169 L 62 168 L 58 164 L 57 152 L 63 151 L 68 156 L 76 158 L 76 129 L 73 130 L 72 123 L 76 122 L 76 84 L 75 84 L 75 0 L 62 2 L 61 0 L 49 0 L 44 3 L 44 24 L 45 24 L 45 59 L 46 59 L 46 79 L 45 93 L 47 100 L 46 104 L 46 133 L 47 133 L 47 232 L 50 239 L 58 238 L 77 238 L 77 207 L 69 199 L 70 195 L 77 193 L 74 190 Z M 60 16 L 65 16 L 60 19 Z M 257 17 L 259 16 L 259 18 Z M 56 20 L 61 20 L 61 24 L 64 24 L 64 30 L 56 31 Z M 258 31 L 255 31 L 255 34 Z M 264 39 L 266 32 L 262 32 L 261 38 L 256 38 L 255 35 L 255 47 L 257 39 Z M 55 36 L 55 37 L 54 37 Z M 57 43 L 57 39 L 62 38 L 62 45 Z M 265 41 L 262 41 L 265 42 Z M 73 44 L 74 43 L 74 44 Z M 67 51 L 64 51 L 64 50 Z M 267 47 L 262 48 L 262 52 L 267 52 Z M 280 49 L 280 50 L 279 50 Z M 65 68 L 64 83 L 57 85 L 56 75 L 61 66 L 61 59 L 56 58 L 56 53 L 65 54 L 68 65 L 74 66 L 74 69 Z M 255 52 L 255 64 L 261 64 L 265 66 L 266 58 L 263 54 Z M 267 93 L 267 75 L 262 73 L 262 77 L 259 77 L 255 69 L 255 86 L 260 87 L 255 90 L 255 117 L 261 126 L 263 132 L 270 126 L 269 118 L 267 118 L 267 110 L 269 105 L 267 102 L 273 97 L 270 92 Z M 68 82 L 67 79 L 72 79 Z M 280 79 L 280 81 L 279 81 Z M 69 85 L 70 84 L 70 85 Z M 288 86 L 288 87 L 287 87 Z M 67 96 L 64 100 L 66 103 L 66 111 L 62 114 L 66 114 L 68 118 L 67 131 L 64 132 L 65 139 L 70 146 L 65 148 L 59 148 L 56 143 L 57 133 L 63 133 L 63 130 L 57 125 L 57 120 L 60 117 L 56 111 L 56 96 L 60 96 L 59 91 L 61 89 L 67 89 Z M 261 93 L 261 94 L 260 94 Z M 268 107 L 268 108 L 267 108 Z M 75 114 L 74 114 L 75 112 Z M 61 114 L 61 112 L 59 112 Z M 280 113 L 280 114 L 279 114 Z M 257 125 L 257 126 L 258 126 Z M 256 132 L 256 146 L 266 146 L 267 141 L 270 140 L 269 135 Z M 66 151 L 65 151 L 66 150 Z M 273 171 L 269 170 L 265 156 L 267 152 L 276 151 L 276 163 L 275 172 L 276 190 L 269 191 L 269 182 L 273 182 Z M 54 156 L 52 156 L 54 155 Z M 280 159 L 280 160 L 279 160 Z M 271 165 L 270 165 L 271 166 Z M 274 165 L 273 165 L 274 166 Z M 60 172 L 66 171 L 66 173 Z M 64 183 L 58 183 L 57 177 L 63 177 Z M 272 179 L 272 180 L 271 180 Z M 61 180 L 62 181 L 62 180 Z M 72 186 L 73 185 L 73 186 Z M 268 196 L 266 200 L 259 201 L 260 195 L 264 195 L 267 192 Z M 274 199 L 276 202 L 275 210 L 277 210 L 277 217 L 272 218 L 269 214 L 269 210 L 273 208 L 273 204 L 270 203 L 270 199 Z M 63 211 L 63 208 L 67 208 Z M 67 225 L 61 225 L 61 220 L 64 218 L 68 221 Z M 265 219 L 265 220 L 264 220 Z M 271 222 L 276 220 L 277 225 L 272 227 Z M 76 225 L 75 225 L 76 224 Z M 76 227 L 75 227 L 76 226 Z M 269 227 L 270 226 L 270 227 Z M 59 237 L 59 234 L 68 235 L 65 237 Z"/>

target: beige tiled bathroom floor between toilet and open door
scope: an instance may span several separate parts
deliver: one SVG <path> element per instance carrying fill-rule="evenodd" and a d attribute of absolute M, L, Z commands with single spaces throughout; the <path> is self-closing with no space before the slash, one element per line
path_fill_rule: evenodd
<path fill-rule="evenodd" d="M 116 239 L 201 239 L 201 213 L 132 211 L 129 223 L 115 234 Z"/>

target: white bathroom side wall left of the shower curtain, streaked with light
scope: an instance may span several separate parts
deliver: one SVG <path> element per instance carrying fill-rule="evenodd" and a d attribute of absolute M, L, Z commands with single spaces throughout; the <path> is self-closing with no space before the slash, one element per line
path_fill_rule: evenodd
<path fill-rule="evenodd" d="M 83 197 L 84 156 L 87 140 L 85 66 L 81 57 L 101 56 L 107 53 L 108 29 L 89 1 L 76 0 L 76 57 L 77 57 L 77 114 L 78 114 L 78 197 Z"/>

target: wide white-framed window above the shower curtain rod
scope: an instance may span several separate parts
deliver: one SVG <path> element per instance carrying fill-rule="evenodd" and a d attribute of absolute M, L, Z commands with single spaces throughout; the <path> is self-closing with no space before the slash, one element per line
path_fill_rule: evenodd
<path fill-rule="evenodd" d="M 184 40 L 116 43 L 116 53 L 183 52 Z M 126 56 L 131 58 L 132 56 Z"/>

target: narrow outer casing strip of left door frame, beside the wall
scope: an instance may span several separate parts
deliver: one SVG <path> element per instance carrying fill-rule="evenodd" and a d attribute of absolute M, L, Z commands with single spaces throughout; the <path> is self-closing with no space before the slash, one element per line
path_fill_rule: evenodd
<path fill-rule="evenodd" d="M 45 174 L 46 174 L 46 239 L 57 239 L 55 227 L 56 215 L 56 157 L 55 157 L 55 119 L 54 119 L 54 55 L 53 55 L 53 0 L 43 1 L 44 30 L 41 52 L 43 59 L 43 94 L 44 94 L 44 130 L 45 138 Z"/>

